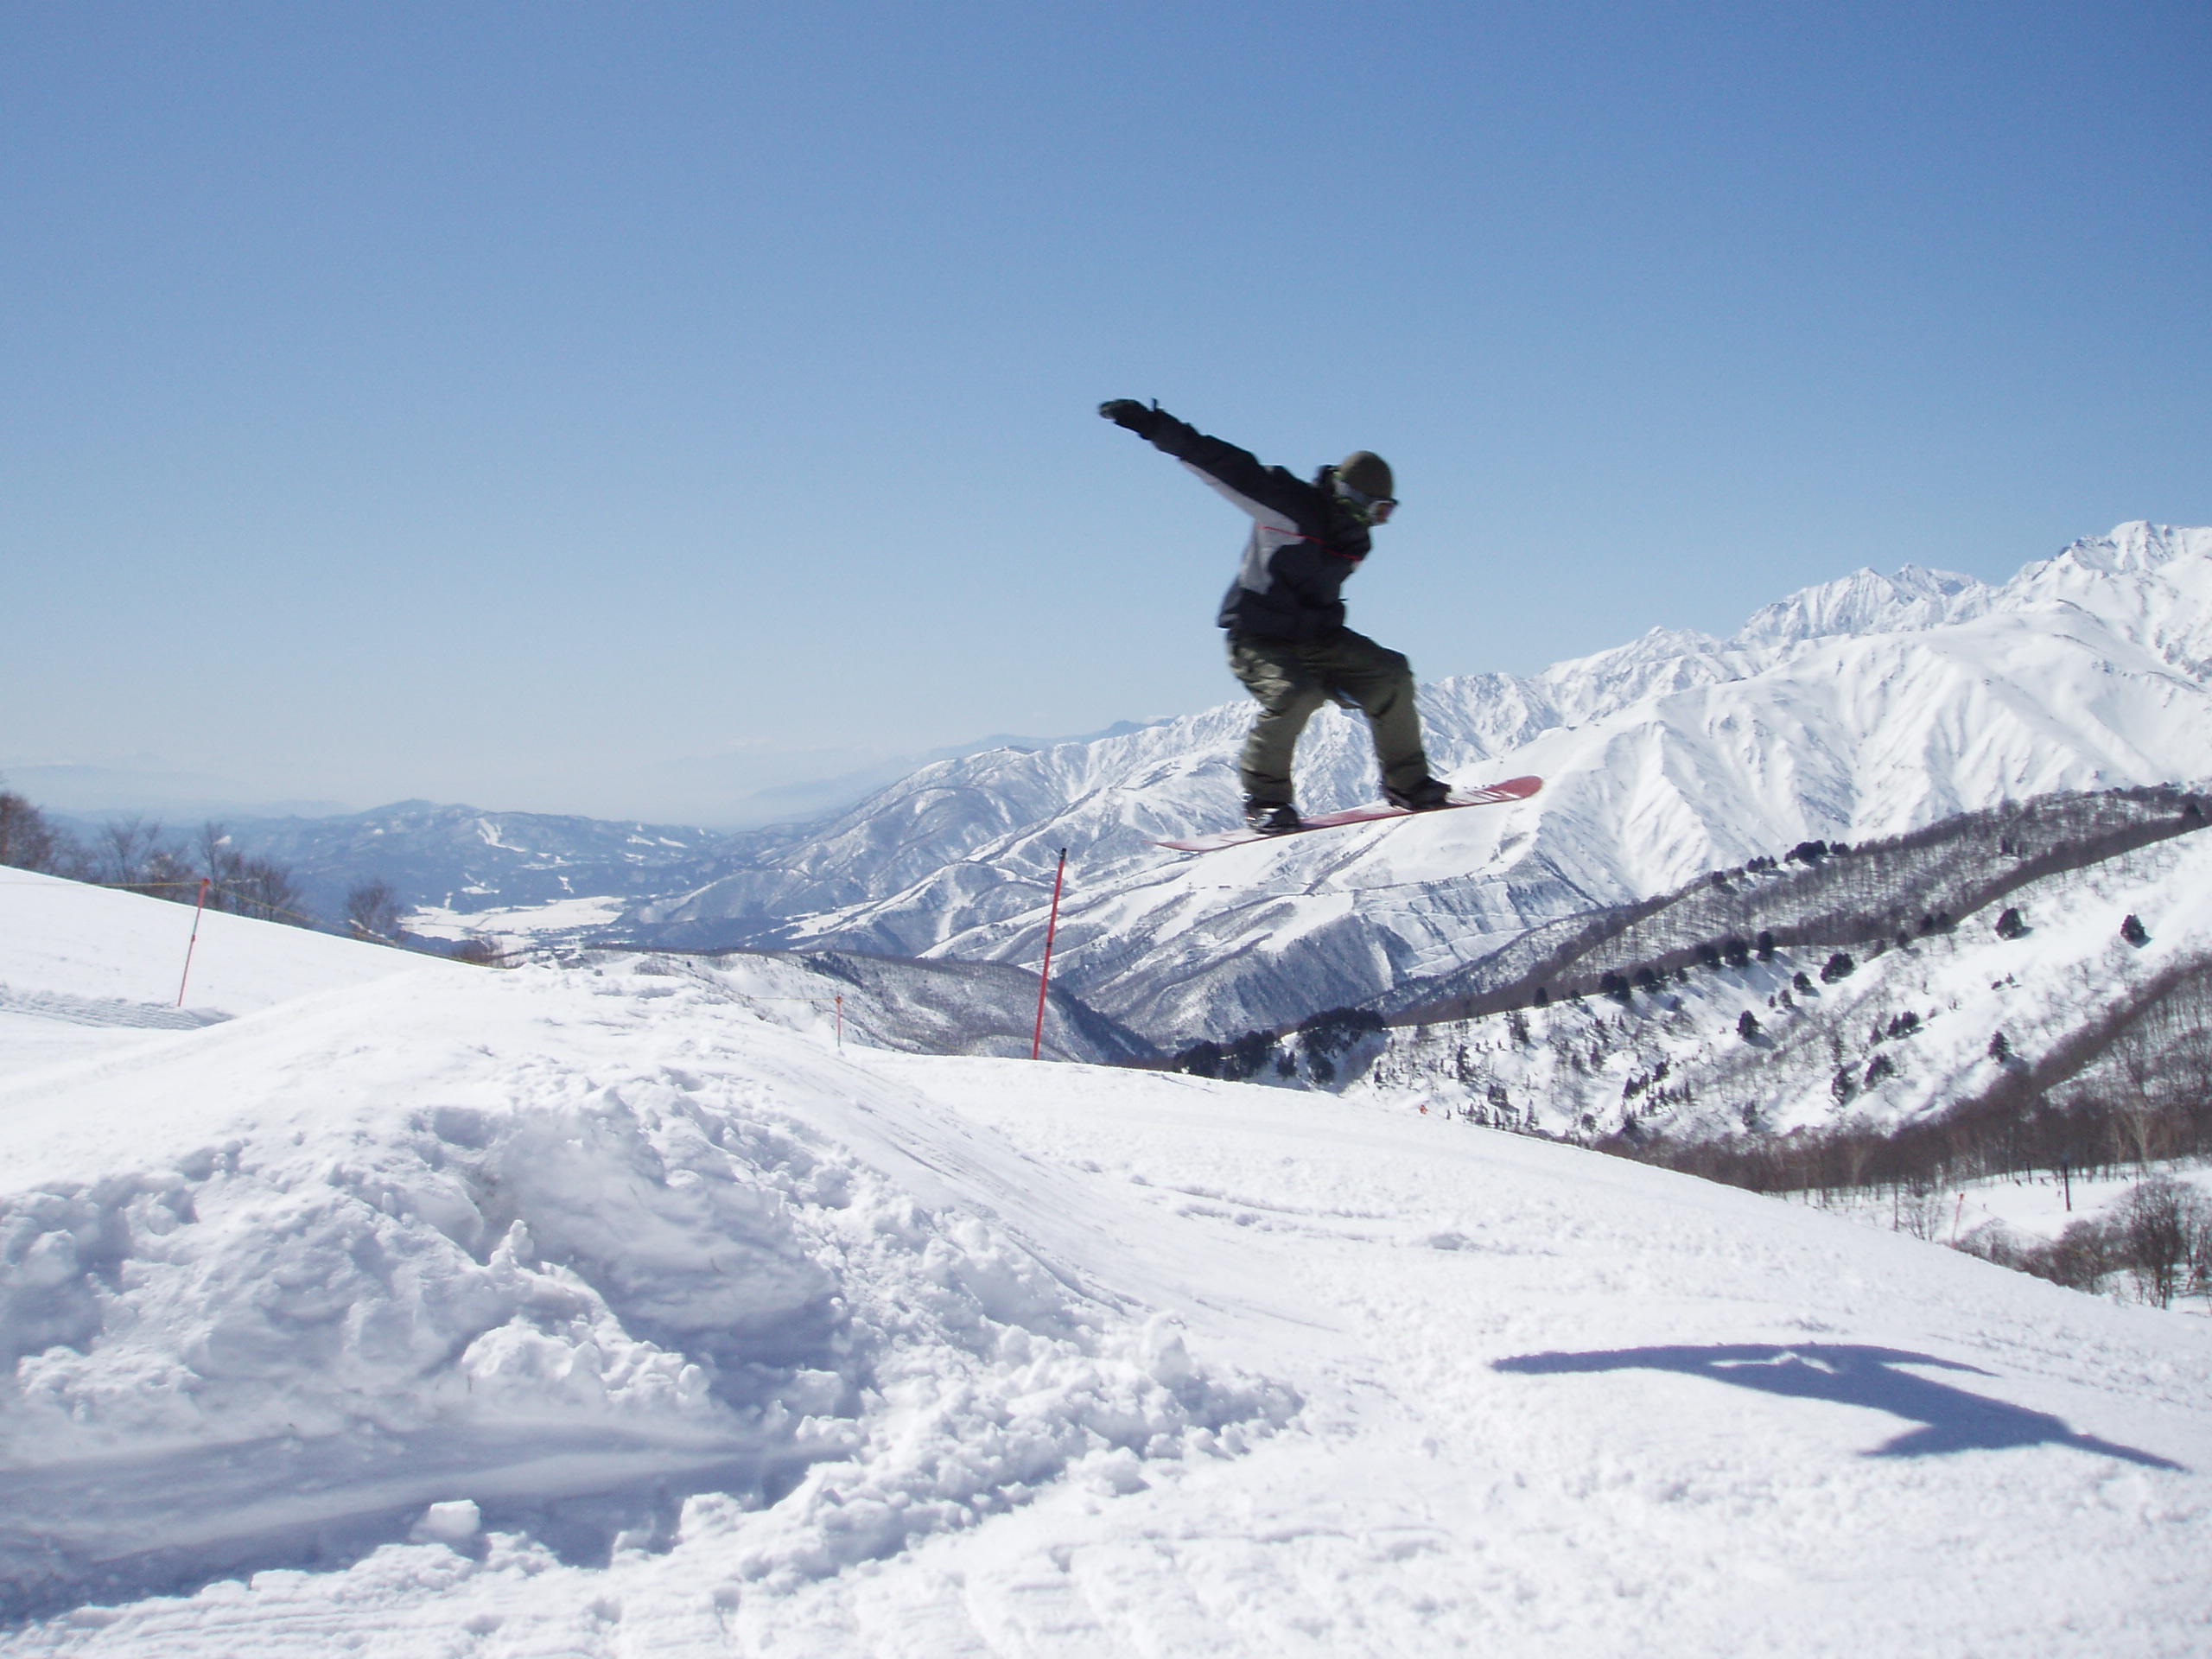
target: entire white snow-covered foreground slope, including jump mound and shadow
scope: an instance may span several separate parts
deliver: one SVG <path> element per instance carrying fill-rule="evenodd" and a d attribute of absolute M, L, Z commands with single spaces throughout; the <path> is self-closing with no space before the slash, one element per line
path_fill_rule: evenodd
<path fill-rule="evenodd" d="M 177 907 L 58 953 L 35 891 L 22 1024 L 159 1006 Z M 1411 1108 L 221 920 L 204 1024 L 0 1082 L 9 1655 L 2212 1648 L 2212 1321 Z"/>

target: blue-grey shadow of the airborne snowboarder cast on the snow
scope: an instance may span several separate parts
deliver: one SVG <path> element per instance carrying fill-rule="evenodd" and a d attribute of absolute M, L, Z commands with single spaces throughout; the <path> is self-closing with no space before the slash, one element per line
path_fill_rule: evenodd
<path fill-rule="evenodd" d="M 2181 1469 L 2168 1458 L 2075 1433 L 2048 1411 L 1991 1400 L 1949 1383 L 1900 1369 L 1933 1365 L 1942 1371 L 1991 1376 L 1975 1365 L 1907 1354 L 1896 1347 L 1856 1343 L 1721 1343 L 1710 1347 L 1624 1347 L 1595 1354 L 1520 1354 L 1491 1369 L 1520 1376 L 1564 1376 L 1571 1371 L 1681 1371 L 1732 1383 L 1739 1389 L 1785 1394 L 1801 1400 L 1834 1400 L 1887 1411 L 1920 1429 L 1900 1433 L 1865 1458 L 1933 1458 L 1944 1451 L 2002 1451 L 2006 1447 L 2075 1447 L 2104 1458 L 2121 1458 L 2146 1469 Z"/>

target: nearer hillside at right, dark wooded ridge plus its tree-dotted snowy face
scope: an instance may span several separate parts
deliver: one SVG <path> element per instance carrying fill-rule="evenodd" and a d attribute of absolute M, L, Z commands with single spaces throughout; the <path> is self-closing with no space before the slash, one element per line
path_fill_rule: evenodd
<path fill-rule="evenodd" d="M 1880 1135 L 1978 1106 L 2020 1126 L 2095 1104 L 2132 1115 L 2148 1157 L 2194 1135 L 2212 1086 L 2208 807 L 2042 796 L 1712 872 L 1190 1060 L 1584 1139 Z"/>

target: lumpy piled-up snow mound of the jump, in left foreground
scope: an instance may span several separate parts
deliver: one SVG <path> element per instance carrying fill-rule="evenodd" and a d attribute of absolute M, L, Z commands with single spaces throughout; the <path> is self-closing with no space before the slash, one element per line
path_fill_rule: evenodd
<path fill-rule="evenodd" d="M 666 978 L 400 975 L 0 1119 L 18 1610 L 462 1500 L 604 1559 L 712 1491 L 737 1577 L 821 1577 L 1292 1405 L 1009 1228 L 1004 1150 Z"/>

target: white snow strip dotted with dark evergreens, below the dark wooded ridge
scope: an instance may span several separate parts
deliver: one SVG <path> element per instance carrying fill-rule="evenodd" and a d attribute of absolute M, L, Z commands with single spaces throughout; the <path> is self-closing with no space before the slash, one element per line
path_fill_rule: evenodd
<path fill-rule="evenodd" d="M 2026 920 L 2017 938 L 1997 931 L 2006 909 Z M 2143 945 L 2121 938 L 2128 916 Z M 1785 947 L 1741 967 L 1683 967 L 1621 1000 L 1398 1029 L 1363 1055 L 1358 1091 L 1546 1133 L 1604 1135 L 1637 1117 L 1688 1139 L 1936 1115 L 2212 964 L 2212 834 L 2026 883 L 1940 933 L 1871 951 L 1838 942 L 1856 947 L 1845 978 L 1823 975 L 1829 945 Z M 2135 1064 L 2132 1079 L 2090 1068 L 2059 1082 L 2093 1093 L 2168 1082 L 2157 1057 Z"/>

